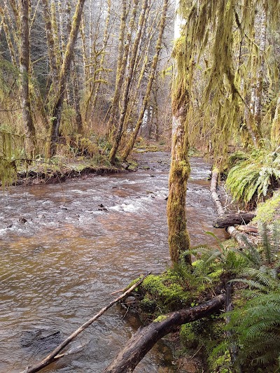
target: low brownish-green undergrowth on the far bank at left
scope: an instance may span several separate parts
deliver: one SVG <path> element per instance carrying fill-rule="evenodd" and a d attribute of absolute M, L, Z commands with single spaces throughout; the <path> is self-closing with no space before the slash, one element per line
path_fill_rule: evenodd
<path fill-rule="evenodd" d="M 5 136 L 4 136 L 5 135 Z M 64 180 L 91 172 L 117 171 L 108 160 L 109 144 L 105 139 L 65 136 L 57 144 L 57 155 L 48 158 L 47 149 L 38 148 L 36 155 L 25 149 L 25 139 L 15 143 L 10 134 L 1 136 L 0 179 L 3 187 L 13 183 Z"/>

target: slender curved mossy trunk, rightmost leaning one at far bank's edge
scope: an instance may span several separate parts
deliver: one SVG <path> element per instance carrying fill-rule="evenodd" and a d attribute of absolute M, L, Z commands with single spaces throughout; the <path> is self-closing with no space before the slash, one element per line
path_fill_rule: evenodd
<path fill-rule="evenodd" d="M 163 3 L 162 17 L 161 17 L 161 20 L 160 20 L 160 31 L 159 31 L 159 34 L 158 34 L 157 45 L 155 46 L 155 55 L 153 57 L 153 63 L 152 63 L 152 66 L 151 66 L 151 72 L 150 72 L 150 76 L 149 76 L 149 79 L 148 79 L 146 94 L 145 94 L 145 97 L 144 97 L 144 100 L 143 100 L 143 104 L 142 104 L 142 107 L 141 107 L 141 111 L 139 113 L 139 117 L 138 117 L 135 129 L 134 129 L 134 132 L 133 132 L 133 134 L 130 138 L 130 141 L 128 141 L 127 146 L 126 146 L 126 148 L 123 152 L 123 159 L 124 160 L 126 160 L 128 155 L 130 155 L 130 153 L 132 152 L 132 148 L 133 148 L 134 143 L 137 139 L 137 135 L 139 133 L 139 129 L 141 127 L 141 124 L 142 124 L 142 121 L 143 121 L 143 118 L 144 118 L 144 113 L 146 111 L 148 102 L 150 100 L 152 85 L 153 85 L 153 81 L 155 79 L 155 71 L 156 71 L 157 66 L 158 66 L 158 58 L 160 56 L 160 50 L 162 48 L 162 36 L 163 36 L 163 32 L 165 31 L 167 6 L 168 6 L 168 0 L 165 0 L 164 3 Z M 150 111 L 150 108 L 148 108 L 148 111 Z"/>

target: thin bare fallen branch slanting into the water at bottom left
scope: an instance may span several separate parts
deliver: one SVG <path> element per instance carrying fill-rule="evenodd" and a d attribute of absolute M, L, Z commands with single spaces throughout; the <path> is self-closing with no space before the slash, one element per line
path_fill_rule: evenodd
<path fill-rule="evenodd" d="M 79 335 L 81 332 L 83 332 L 83 330 L 85 330 L 89 325 L 91 325 L 95 320 L 97 320 L 97 318 L 99 318 L 100 316 L 102 316 L 104 314 L 104 312 L 107 311 L 107 309 L 109 309 L 110 307 L 113 306 L 113 304 L 116 304 L 118 301 L 120 301 L 123 298 L 127 297 L 127 295 L 129 295 L 132 292 L 132 290 L 134 290 L 135 288 L 137 288 L 137 286 L 139 286 L 140 283 L 142 283 L 144 281 L 144 279 L 146 279 L 146 277 L 149 274 L 150 273 L 148 273 L 145 276 L 143 276 L 139 281 L 137 281 L 137 283 L 134 283 L 133 286 L 131 286 L 128 290 L 126 290 L 125 293 L 123 293 L 118 298 L 116 298 L 115 300 L 113 300 L 112 302 L 110 302 L 109 304 L 107 304 L 106 307 L 104 307 L 103 309 L 101 309 L 98 312 L 98 314 L 96 314 L 95 316 L 93 316 L 92 318 L 90 318 L 90 320 L 88 320 L 86 323 L 83 323 L 83 325 L 81 325 L 80 328 L 78 328 L 77 330 L 75 330 L 75 332 L 73 332 L 71 335 L 69 335 L 69 337 L 67 337 L 64 340 L 64 342 L 62 342 L 61 344 L 59 344 L 59 346 L 57 346 L 57 348 L 54 349 L 40 363 L 34 365 L 33 367 L 27 367 L 25 370 L 23 370 L 20 373 L 35 373 L 35 372 L 38 372 L 39 370 L 42 370 L 47 365 L 50 365 L 51 363 L 53 363 L 54 361 L 56 361 L 58 358 L 61 358 L 62 356 L 65 356 L 66 355 L 65 353 L 59 354 L 59 352 L 62 351 L 62 349 L 64 349 L 64 347 L 66 347 L 75 337 L 77 337 L 77 335 Z"/>

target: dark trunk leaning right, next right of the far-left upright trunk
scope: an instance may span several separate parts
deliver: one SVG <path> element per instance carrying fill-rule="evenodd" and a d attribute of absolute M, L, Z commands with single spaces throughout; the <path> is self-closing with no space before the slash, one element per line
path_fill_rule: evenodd
<path fill-rule="evenodd" d="M 55 155 L 57 148 L 57 139 L 59 135 L 59 125 L 62 115 L 62 105 L 64 100 L 64 94 L 66 89 L 66 80 L 69 76 L 70 64 L 73 57 L 73 48 L 76 43 L 76 38 L 78 36 L 78 29 L 80 27 L 80 19 L 83 13 L 83 6 L 85 0 L 78 0 L 76 5 L 75 14 L 73 15 L 73 21 L 71 26 L 71 32 L 69 35 L 69 40 L 66 46 L 64 60 L 62 64 L 62 69 L 59 76 L 59 87 L 57 90 L 57 97 L 55 101 L 54 108 L 52 110 L 52 127 L 51 127 L 51 139 L 50 139 L 50 157 Z"/>

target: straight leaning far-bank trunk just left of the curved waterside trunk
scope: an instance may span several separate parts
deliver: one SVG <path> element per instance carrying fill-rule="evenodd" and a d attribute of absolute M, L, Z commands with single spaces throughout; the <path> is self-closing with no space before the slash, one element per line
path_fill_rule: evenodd
<path fill-rule="evenodd" d="M 135 0 L 135 3 L 138 3 L 138 0 Z M 109 160 L 112 164 L 116 162 L 116 154 L 118 147 L 120 146 L 120 140 L 122 139 L 123 136 L 123 124 L 125 122 L 125 114 L 127 113 L 127 105 L 129 101 L 128 94 L 130 92 L 130 84 L 132 82 L 132 76 L 133 76 L 133 71 L 134 71 L 134 64 L 136 61 L 137 57 L 137 52 L 138 52 L 138 47 L 139 47 L 139 42 L 140 42 L 140 37 L 142 34 L 142 27 L 145 21 L 145 16 L 146 16 L 146 11 L 148 9 L 148 0 L 143 0 L 142 3 L 142 9 L 139 17 L 139 22 L 138 22 L 138 29 L 137 29 L 137 34 L 134 39 L 134 43 L 132 46 L 132 52 L 130 56 L 130 64 L 128 66 L 127 70 L 127 75 L 125 76 L 125 86 L 123 90 L 123 102 L 121 106 L 121 113 L 120 113 L 120 119 L 118 123 L 118 129 L 116 132 L 116 136 L 113 142 L 113 147 L 111 149 L 111 152 L 109 154 Z"/>

